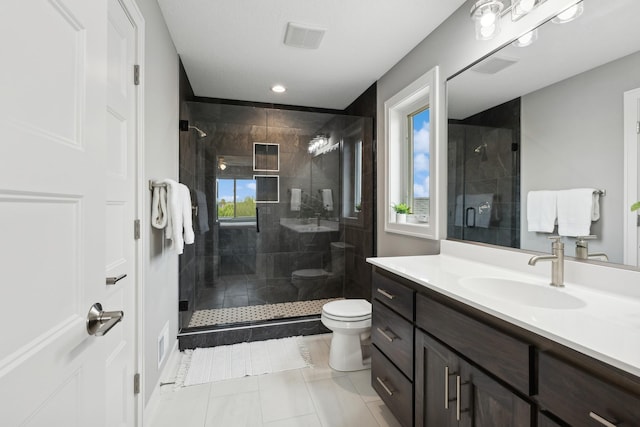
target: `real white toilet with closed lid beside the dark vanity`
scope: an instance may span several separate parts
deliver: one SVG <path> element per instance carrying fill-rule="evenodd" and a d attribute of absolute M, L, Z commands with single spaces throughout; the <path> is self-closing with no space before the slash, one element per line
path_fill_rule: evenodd
<path fill-rule="evenodd" d="M 331 301 L 322 306 L 322 324 L 333 332 L 329 366 L 336 371 L 358 371 L 370 366 L 363 342 L 371 336 L 371 303 L 365 299 Z"/>

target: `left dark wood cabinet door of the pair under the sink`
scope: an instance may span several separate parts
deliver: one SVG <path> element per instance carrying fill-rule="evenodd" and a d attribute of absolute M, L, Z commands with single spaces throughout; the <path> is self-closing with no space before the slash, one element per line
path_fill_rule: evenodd
<path fill-rule="evenodd" d="M 424 332 L 416 330 L 415 426 L 445 427 L 455 421 L 458 357 Z"/>

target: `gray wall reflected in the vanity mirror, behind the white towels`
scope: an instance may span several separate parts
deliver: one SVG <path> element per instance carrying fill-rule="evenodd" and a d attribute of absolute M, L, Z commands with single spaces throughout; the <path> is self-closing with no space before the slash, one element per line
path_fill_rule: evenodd
<path fill-rule="evenodd" d="M 530 190 L 594 187 L 607 191 L 590 252 L 623 262 L 623 93 L 640 87 L 640 53 L 522 97 L 522 248 L 548 252 L 545 234 L 527 231 Z M 588 88 L 588 90 L 585 90 Z M 544 173 L 540 171 L 544 170 Z M 575 239 L 565 239 L 568 255 Z"/>

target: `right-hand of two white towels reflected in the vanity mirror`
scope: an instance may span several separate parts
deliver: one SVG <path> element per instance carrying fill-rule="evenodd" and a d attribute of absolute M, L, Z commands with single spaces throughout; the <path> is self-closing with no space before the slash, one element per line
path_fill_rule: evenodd
<path fill-rule="evenodd" d="M 558 234 L 588 236 L 591 221 L 600 218 L 600 193 L 594 188 L 558 191 Z"/>

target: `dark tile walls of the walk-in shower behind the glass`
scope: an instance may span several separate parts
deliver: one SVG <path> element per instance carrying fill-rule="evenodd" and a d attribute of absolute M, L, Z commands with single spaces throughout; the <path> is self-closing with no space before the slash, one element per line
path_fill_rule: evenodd
<path fill-rule="evenodd" d="M 185 177 L 193 176 L 192 188 L 206 194 L 209 206 L 210 231 L 200 234 L 196 230 L 195 309 L 295 301 L 298 290 L 291 284 L 291 272 L 305 268 L 330 269 L 330 243 L 345 240 L 352 246 L 345 253 L 345 281 L 329 284 L 325 287 L 328 294 L 318 295 L 318 298 L 368 298 L 370 285 L 366 278 L 369 268 L 365 258 L 372 255 L 374 228 L 371 120 L 201 102 L 189 102 L 188 111 L 192 124 L 207 133 L 194 145 L 185 145 L 193 150 L 195 156 L 184 153 L 185 159 L 193 158 L 197 171 L 191 173 L 187 169 Z M 312 158 L 307 152 L 308 142 L 319 132 L 339 140 L 342 129 L 354 121 L 363 120 L 366 123 L 361 219 L 355 223 L 342 222 L 339 231 L 331 233 L 298 234 L 284 229 L 280 225 L 281 217 L 309 215 L 304 209 L 301 212 L 291 211 L 290 194 L 287 192 L 291 188 L 300 188 L 305 197 L 316 201 L 320 199 L 317 189 L 330 188 L 334 210 L 322 215 L 341 216 L 340 151 Z M 215 222 L 216 178 L 223 177 L 224 173 L 252 175 L 252 165 L 244 165 L 238 159 L 244 157 L 247 160 L 249 156 L 248 160 L 251 160 L 254 142 L 280 146 L 280 170 L 264 172 L 280 177 L 280 203 L 258 203 L 260 233 L 247 225 L 220 228 Z M 238 164 L 230 164 L 221 172 L 217 168 L 219 155 L 235 158 Z M 181 161 L 181 168 L 182 164 Z M 191 166 L 189 163 L 187 168 Z M 313 210 L 316 209 L 310 212 Z"/>

